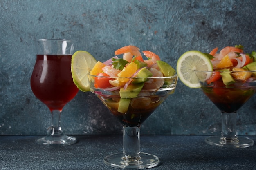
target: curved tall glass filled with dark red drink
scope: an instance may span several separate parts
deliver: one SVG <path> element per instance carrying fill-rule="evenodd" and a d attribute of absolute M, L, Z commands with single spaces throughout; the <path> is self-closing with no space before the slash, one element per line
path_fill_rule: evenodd
<path fill-rule="evenodd" d="M 75 40 L 40 39 L 35 41 L 36 63 L 31 75 L 34 95 L 51 111 L 52 125 L 47 136 L 36 139 L 45 146 L 76 143 L 76 138 L 64 135 L 60 126 L 61 111 L 72 100 L 78 88 L 71 75 L 71 57 Z"/>

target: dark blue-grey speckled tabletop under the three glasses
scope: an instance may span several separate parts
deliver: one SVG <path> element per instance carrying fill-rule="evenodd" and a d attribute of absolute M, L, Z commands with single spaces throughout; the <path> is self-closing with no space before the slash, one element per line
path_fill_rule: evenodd
<path fill-rule="evenodd" d="M 0 136 L 1 170 L 112 170 L 103 163 L 122 152 L 121 135 L 75 135 L 70 146 L 40 146 L 40 136 Z M 151 170 L 254 170 L 256 146 L 221 148 L 204 142 L 206 136 L 141 136 L 141 152 L 157 155 Z M 255 136 L 250 137 L 256 140 Z"/>

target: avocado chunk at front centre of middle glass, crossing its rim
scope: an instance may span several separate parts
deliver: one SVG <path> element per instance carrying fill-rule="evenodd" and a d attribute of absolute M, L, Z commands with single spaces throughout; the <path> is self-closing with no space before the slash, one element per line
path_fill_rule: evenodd
<path fill-rule="evenodd" d="M 121 98 L 135 98 L 141 91 L 142 87 L 144 86 L 143 83 L 138 84 L 129 84 L 127 88 L 124 90 L 124 88 L 120 89 L 120 97 Z"/>

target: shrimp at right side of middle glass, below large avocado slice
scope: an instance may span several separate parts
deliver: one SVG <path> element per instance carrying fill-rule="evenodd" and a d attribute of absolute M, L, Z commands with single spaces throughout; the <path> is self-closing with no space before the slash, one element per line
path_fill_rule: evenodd
<path fill-rule="evenodd" d="M 153 74 L 152 77 L 164 77 L 163 73 L 155 68 L 150 68 L 149 71 Z M 157 91 L 163 85 L 164 79 L 149 79 L 145 82 L 143 89 Z"/>

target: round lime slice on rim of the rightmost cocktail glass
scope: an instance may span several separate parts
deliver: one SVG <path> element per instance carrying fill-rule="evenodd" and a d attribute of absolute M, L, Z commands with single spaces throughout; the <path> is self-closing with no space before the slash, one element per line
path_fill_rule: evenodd
<path fill-rule="evenodd" d="M 201 87 L 195 70 L 213 71 L 213 65 L 209 57 L 204 53 L 200 51 L 187 51 L 177 61 L 177 74 L 180 81 L 190 88 Z M 208 74 L 206 76 L 205 79 L 211 75 Z"/>

